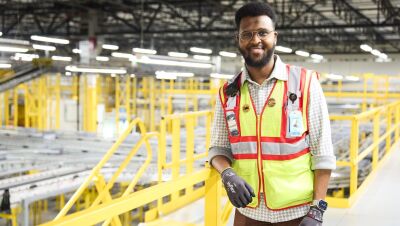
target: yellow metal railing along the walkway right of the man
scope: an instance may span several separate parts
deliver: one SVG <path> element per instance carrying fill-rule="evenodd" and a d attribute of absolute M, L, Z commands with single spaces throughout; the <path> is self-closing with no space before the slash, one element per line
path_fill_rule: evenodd
<path fill-rule="evenodd" d="M 328 197 L 327 200 L 332 207 L 348 208 L 350 207 L 360 192 L 365 189 L 370 178 L 374 175 L 375 169 L 379 163 L 385 159 L 390 152 L 392 146 L 399 141 L 400 131 L 400 101 L 371 109 L 369 111 L 353 115 L 353 116 L 331 116 L 334 121 L 350 121 L 351 122 L 351 135 L 350 135 L 350 156 L 348 161 L 338 161 L 339 167 L 350 167 L 350 185 L 349 197 L 337 198 Z M 367 148 L 360 152 L 360 123 L 365 121 L 372 121 L 373 123 L 373 142 Z M 379 134 L 380 126 L 386 123 L 386 131 L 384 134 Z M 392 140 L 393 137 L 393 140 Z M 385 141 L 384 154 L 379 159 L 379 145 Z M 392 142 L 393 141 L 393 142 Z M 372 154 L 372 172 L 364 180 L 358 184 L 358 163 L 368 155 Z"/>

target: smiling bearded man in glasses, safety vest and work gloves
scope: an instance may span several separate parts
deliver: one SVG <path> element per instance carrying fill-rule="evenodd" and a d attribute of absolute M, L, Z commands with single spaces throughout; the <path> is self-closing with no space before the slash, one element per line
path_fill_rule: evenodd
<path fill-rule="evenodd" d="M 245 69 L 220 89 L 209 150 L 234 225 L 322 225 L 336 159 L 318 75 L 274 55 L 268 4 L 244 5 L 235 22 Z"/>

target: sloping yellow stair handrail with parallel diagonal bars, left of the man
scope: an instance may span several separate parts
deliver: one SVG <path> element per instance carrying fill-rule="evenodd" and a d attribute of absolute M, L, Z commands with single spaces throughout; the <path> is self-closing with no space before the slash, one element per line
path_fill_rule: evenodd
<path fill-rule="evenodd" d="M 100 174 L 101 168 L 107 163 L 107 161 L 112 157 L 112 155 L 117 151 L 118 147 L 122 144 L 122 142 L 127 138 L 127 136 L 130 134 L 130 132 L 133 130 L 135 126 L 139 127 L 140 133 L 142 134 L 140 141 L 131 149 L 127 157 L 124 159 L 120 167 L 117 169 L 117 171 L 114 173 L 112 176 L 111 180 L 103 187 L 101 190 L 99 190 L 99 195 L 92 204 L 91 208 L 93 208 L 95 205 L 98 205 L 100 201 L 103 200 L 103 198 L 107 195 L 109 196 L 109 189 L 112 188 L 114 185 L 116 179 L 118 176 L 122 173 L 123 169 L 126 168 L 128 165 L 129 161 L 132 159 L 132 157 L 136 154 L 140 146 L 145 142 L 146 143 L 146 150 L 147 150 L 147 158 L 145 160 L 144 165 L 139 169 L 139 172 L 135 175 L 134 179 L 131 181 L 129 184 L 128 188 L 133 188 L 134 185 L 137 183 L 138 179 L 141 177 L 141 175 L 144 172 L 144 169 L 148 166 L 149 162 L 151 161 L 152 158 L 152 151 L 150 144 L 148 143 L 148 139 L 150 137 L 156 136 L 156 133 L 146 133 L 146 128 L 144 126 L 144 123 L 139 119 L 133 120 L 128 128 L 124 131 L 124 133 L 118 138 L 118 140 L 112 145 L 112 147 L 107 151 L 107 153 L 104 155 L 104 157 L 100 160 L 100 162 L 93 168 L 92 172 L 90 175 L 85 179 L 83 184 L 78 188 L 78 190 L 72 195 L 72 197 L 69 199 L 67 204 L 64 206 L 64 208 L 58 213 L 58 215 L 55 217 L 55 220 L 60 219 L 61 217 L 65 216 L 68 211 L 71 209 L 73 204 L 79 199 L 79 197 L 83 194 L 85 189 L 92 183 L 94 179 L 96 180 L 101 180 L 102 176 Z M 126 196 L 127 191 L 132 191 L 132 189 L 128 190 L 126 189 L 123 196 Z"/>

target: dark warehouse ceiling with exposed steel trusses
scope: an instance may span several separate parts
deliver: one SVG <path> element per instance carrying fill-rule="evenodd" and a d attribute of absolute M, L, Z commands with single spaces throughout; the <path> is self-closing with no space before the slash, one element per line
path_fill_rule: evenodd
<path fill-rule="evenodd" d="M 243 0 L 0 0 L 6 38 L 32 34 L 77 41 L 95 34 L 120 49 L 160 54 L 192 46 L 236 51 L 235 11 Z M 400 0 L 268 1 L 278 14 L 278 44 L 319 54 L 361 53 L 369 44 L 400 51 Z"/>

